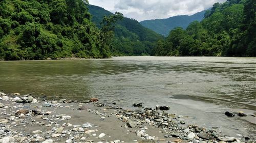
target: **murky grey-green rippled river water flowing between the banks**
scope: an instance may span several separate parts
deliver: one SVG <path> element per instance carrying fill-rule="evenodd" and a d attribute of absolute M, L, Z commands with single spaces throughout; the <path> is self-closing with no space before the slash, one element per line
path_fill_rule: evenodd
<path fill-rule="evenodd" d="M 168 105 L 188 124 L 227 135 L 255 136 L 256 58 L 130 56 L 103 60 L 0 62 L 0 90 L 50 98 L 101 101 L 124 108 Z M 250 122 L 248 122 L 250 121 Z"/>

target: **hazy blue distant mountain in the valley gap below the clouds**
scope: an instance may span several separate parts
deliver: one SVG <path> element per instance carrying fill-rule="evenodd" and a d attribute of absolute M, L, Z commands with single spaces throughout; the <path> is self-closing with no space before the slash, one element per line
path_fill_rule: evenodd
<path fill-rule="evenodd" d="M 140 23 L 143 26 L 155 31 L 156 33 L 167 36 L 169 32 L 173 30 L 175 27 L 186 28 L 188 24 L 193 21 L 203 20 L 206 11 L 207 10 L 204 10 L 191 16 L 180 15 L 169 17 L 167 19 L 144 20 Z"/>

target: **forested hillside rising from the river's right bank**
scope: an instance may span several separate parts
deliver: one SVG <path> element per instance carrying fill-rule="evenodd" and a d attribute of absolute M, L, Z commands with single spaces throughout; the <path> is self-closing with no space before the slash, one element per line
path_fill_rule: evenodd
<path fill-rule="evenodd" d="M 153 50 L 158 56 L 255 56 L 255 0 L 216 3 L 205 18 L 177 27 Z"/>

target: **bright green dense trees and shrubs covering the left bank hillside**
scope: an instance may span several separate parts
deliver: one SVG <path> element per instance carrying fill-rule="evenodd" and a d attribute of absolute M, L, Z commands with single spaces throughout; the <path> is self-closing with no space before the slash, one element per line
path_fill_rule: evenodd
<path fill-rule="evenodd" d="M 113 25 L 122 15 L 90 21 L 88 1 L 1 0 L 0 59 L 108 58 Z"/>

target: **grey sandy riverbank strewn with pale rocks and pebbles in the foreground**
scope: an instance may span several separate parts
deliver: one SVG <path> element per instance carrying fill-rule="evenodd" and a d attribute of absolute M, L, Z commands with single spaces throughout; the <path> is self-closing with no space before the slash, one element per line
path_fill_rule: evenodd
<path fill-rule="evenodd" d="M 0 92 L 1 142 L 254 142 L 253 136 L 225 136 L 217 128 L 186 125 L 168 106 L 66 99 L 48 101 L 31 95 Z"/>

